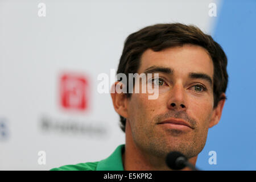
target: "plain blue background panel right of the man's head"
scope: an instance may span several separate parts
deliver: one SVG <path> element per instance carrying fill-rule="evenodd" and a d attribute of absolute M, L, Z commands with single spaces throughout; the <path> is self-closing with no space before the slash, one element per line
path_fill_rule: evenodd
<path fill-rule="evenodd" d="M 256 170 L 256 1 L 223 1 L 214 40 L 228 56 L 228 100 L 209 129 L 197 166 L 204 170 Z M 209 151 L 217 152 L 210 165 Z"/>

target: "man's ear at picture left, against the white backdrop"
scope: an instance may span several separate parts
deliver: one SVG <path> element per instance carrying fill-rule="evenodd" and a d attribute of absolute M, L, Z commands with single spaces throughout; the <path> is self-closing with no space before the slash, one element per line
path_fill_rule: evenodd
<path fill-rule="evenodd" d="M 126 97 L 126 94 L 121 92 L 117 93 L 116 89 L 117 85 L 119 88 L 122 88 L 122 82 L 121 81 L 116 81 L 112 86 L 111 86 L 111 97 L 112 97 L 112 102 L 115 111 L 121 115 L 124 118 L 128 117 L 127 114 L 127 100 L 128 98 Z"/>

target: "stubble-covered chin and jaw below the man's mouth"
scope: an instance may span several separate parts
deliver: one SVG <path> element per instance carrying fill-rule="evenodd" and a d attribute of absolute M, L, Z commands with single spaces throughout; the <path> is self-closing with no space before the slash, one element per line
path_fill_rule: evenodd
<path fill-rule="evenodd" d="M 133 127 L 134 129 L 134 127 Z M 181 130 L 158 130 L 157 125 L 136 126 L 133 140 L 145 154 L 165 159 L 171 151 L 179 151 L 188 159 L 197 156 L 204 148 L 208 129 L 193 129 L 189 133 Z"/>

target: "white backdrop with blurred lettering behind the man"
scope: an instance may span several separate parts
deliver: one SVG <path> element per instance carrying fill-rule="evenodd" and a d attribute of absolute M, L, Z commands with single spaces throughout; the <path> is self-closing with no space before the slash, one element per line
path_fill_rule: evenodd
<path fill-rule="evenodd" d="M 211 34 L 219 1 L 0 1 L 0 169 L 48 170 L 108 157 L 125 134 L 97 76 L 117 69 L 126 37 L 155 23 Z M 39 16 L 39 3 L 46 16 Z M 61 106 L 61 77 L 86 84 L 86 107 Z M 46 152 L 46 164 L 38 152 Z"/>

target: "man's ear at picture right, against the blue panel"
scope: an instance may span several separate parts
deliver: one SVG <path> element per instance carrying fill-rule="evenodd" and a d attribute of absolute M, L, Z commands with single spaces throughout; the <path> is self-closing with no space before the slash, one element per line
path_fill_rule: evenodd
<path fill-rule="evenodd" d="M 225 98 L 225 96 L 225 93 L 222 93 L 221 97 Z M 220 100 L 216 108 L 213 110 L 213 115 L 209 122 L 209 128 L 217 125 L 218 122 L 220 121 L 225 101 L 225 99 Z"/>

